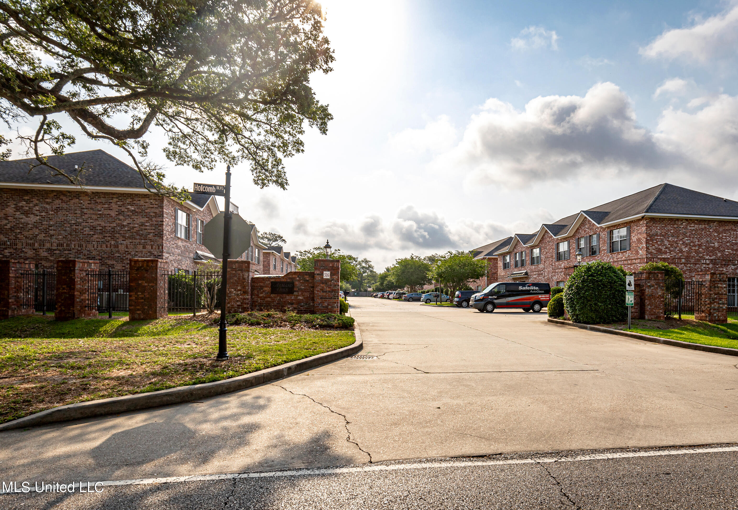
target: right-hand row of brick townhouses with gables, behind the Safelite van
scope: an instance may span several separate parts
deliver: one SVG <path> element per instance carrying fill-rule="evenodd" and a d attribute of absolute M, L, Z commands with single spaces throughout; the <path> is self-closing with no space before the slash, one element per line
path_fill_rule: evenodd
<path fill-rule="evenodd" d="M 677 266 L 687 279 L 698 272 L 723 272 L 729 306 L 736 306 L 730 303 L 737 303 L 737 239 L 738 201 L 662 184 L 544 224 L 536 232 L 494 241 L 472 254 L 488 262 L 489 283 L 562 285 L 573 272 L 577 252 L 582 263 L 606 261 L 632 272 L 650 261 Z"/>

